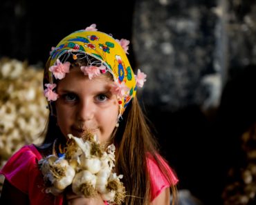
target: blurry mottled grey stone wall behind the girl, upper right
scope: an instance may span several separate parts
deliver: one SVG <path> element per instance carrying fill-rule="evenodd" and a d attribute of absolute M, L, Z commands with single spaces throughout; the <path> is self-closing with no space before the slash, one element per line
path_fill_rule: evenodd
<path fill-rule="evenodd" d="M 137 0 L 134 51 L 150 81 L 146 104 L 219 105 L 229 70 L 256 61 L 253 1 Z"/>

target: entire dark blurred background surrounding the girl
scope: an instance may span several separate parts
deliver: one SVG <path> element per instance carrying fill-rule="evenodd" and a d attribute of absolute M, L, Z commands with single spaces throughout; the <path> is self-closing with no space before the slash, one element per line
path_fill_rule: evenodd
<path fill-rule="evenodd" d="M 0 166 L 44 129 L 51 47 L 92 23 L 129 39 L 131 66 L 147 73 L 138 97 L 180 204 L 256 204 L 253 0 L 1 0 Z"/>

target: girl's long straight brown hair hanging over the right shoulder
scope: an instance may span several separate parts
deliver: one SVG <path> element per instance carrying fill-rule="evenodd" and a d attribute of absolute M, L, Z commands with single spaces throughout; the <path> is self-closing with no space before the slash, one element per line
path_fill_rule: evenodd
<path fill-rule="evenodd" d="M 116 171 L 122 174 L 127 197 L 125 204 L 148 205 L 151 203 L 151 184 L 147 172 L 146 155 L 149 153 L 158 163 L 167 182 L 174 184 L 167 175 L 165 166 L 158 160 L 158 144 L 150 132 L 147 118 L 143 114 L 138 99 L 134 97 L 123 114 L 114 142 L 116 153 Z M 176 186 L 171 186 L 172 204 L 176 203 Z"/>

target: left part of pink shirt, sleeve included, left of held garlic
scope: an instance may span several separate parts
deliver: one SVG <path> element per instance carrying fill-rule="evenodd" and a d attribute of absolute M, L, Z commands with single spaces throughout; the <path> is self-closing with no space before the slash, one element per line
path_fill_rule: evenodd
<path fill-rule="evenodd" d="M 0 174 L 5 175 L 8 182 L 28 195 L 30 204 L 62 204 L 62 197 L 55 197 L 45 192 L 44 179 L 37 167 L 42 159 L 33 144 L 24 146 L 17 151 L 3 166 Z"/>

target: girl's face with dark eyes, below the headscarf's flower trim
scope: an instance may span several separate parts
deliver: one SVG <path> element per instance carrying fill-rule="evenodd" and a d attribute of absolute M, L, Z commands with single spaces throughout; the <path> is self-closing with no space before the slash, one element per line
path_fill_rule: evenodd
<path fill-rule="evenodd" d="M 118 100 L 110 91 L 113 81 L 106 75 L 89 79 L 80 68 L 72 68 L 58 82 L 57 124 L 67 136 L 81 137 L 84 130 L 107 142 L 118 120 Z"/>

